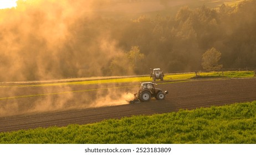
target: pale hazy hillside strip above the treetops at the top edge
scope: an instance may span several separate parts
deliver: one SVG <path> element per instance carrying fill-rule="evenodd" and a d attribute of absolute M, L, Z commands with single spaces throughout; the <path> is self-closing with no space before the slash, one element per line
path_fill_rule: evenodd
<path fill-rule="evenodd" d="M 205 5 L 209 8 L 218 8 L 222 4 L 233 6 L 240 1 L 214 1 L 214 0 L 110 0 L 105 3 L 95 3 L 95 12 L 107 17 L 120 16 L 137 17 L 142 15 L 169 14 L 175 16 L 177 11 L 184 6 L 198 8 Z"/>

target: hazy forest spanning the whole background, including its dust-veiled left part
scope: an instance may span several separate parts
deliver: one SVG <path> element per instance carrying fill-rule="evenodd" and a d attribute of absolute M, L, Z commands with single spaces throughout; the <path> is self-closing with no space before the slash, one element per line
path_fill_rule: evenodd
<path fill-rule="evenodd" d="M 212 48 L 225 69 L 256 68 L 254 0 L 132 17 L 106 11 L 114 0 L 96 2 L 18 0 L 0 9 L 0 82 L 203 70 Z"/>

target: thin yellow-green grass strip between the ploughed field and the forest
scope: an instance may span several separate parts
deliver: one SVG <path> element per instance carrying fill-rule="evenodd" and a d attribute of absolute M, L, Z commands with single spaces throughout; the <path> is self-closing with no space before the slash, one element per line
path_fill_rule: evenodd
<path fill-rule="evenodd" d="M 192 79 L 209 79 L 209 78 L 232 78 L 232 77 L 254 77 L 254 71 L 224 71 L 203 72 L 196 77 L 195 73 L 177 73 L 166 74 L 164 82 L 178 82 Z M 89 77 L 89 78 L 74 78 L 52 81 L 26 81 L 26 82 L 4 82 L 0 87 L 45 87 L 45 86 L 61 86 L 61 85 L 90 85 L 90 84 L 109 84 L 122 82 L 146 82 L 152 81 L 150 76 L 106 76 L 106 77 Z M 159 81 L 159 80 L 157 80 Z M 156 82 L 157 82 L 156 81 Z"/>

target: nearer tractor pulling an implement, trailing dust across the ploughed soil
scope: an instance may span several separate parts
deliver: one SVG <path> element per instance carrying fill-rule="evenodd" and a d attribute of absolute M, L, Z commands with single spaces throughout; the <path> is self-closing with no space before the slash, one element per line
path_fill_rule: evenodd
<path fill-rule="evenodd" d="M 153 82 L 142 82 L 140 89 L 134 94 L 134 100 L 130 101 L 131 104 L 135 102 L 147 102 L 150 101 L 151 97 L 155 97 L 157 100 L 165 99 L 165 95 L 168 94 L 168 91 L 162 91 L 155 87 Z"/>

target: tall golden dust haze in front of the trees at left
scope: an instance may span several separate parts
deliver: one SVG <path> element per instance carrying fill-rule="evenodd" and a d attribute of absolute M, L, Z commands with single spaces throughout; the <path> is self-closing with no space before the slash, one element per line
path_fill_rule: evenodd
<path fill-rule="evenodd" d="M 0 9 L 0 81 L 103 75 L 124 51 L 106 29 L 97 29 L 97 3 L 19 0 Z"/>

